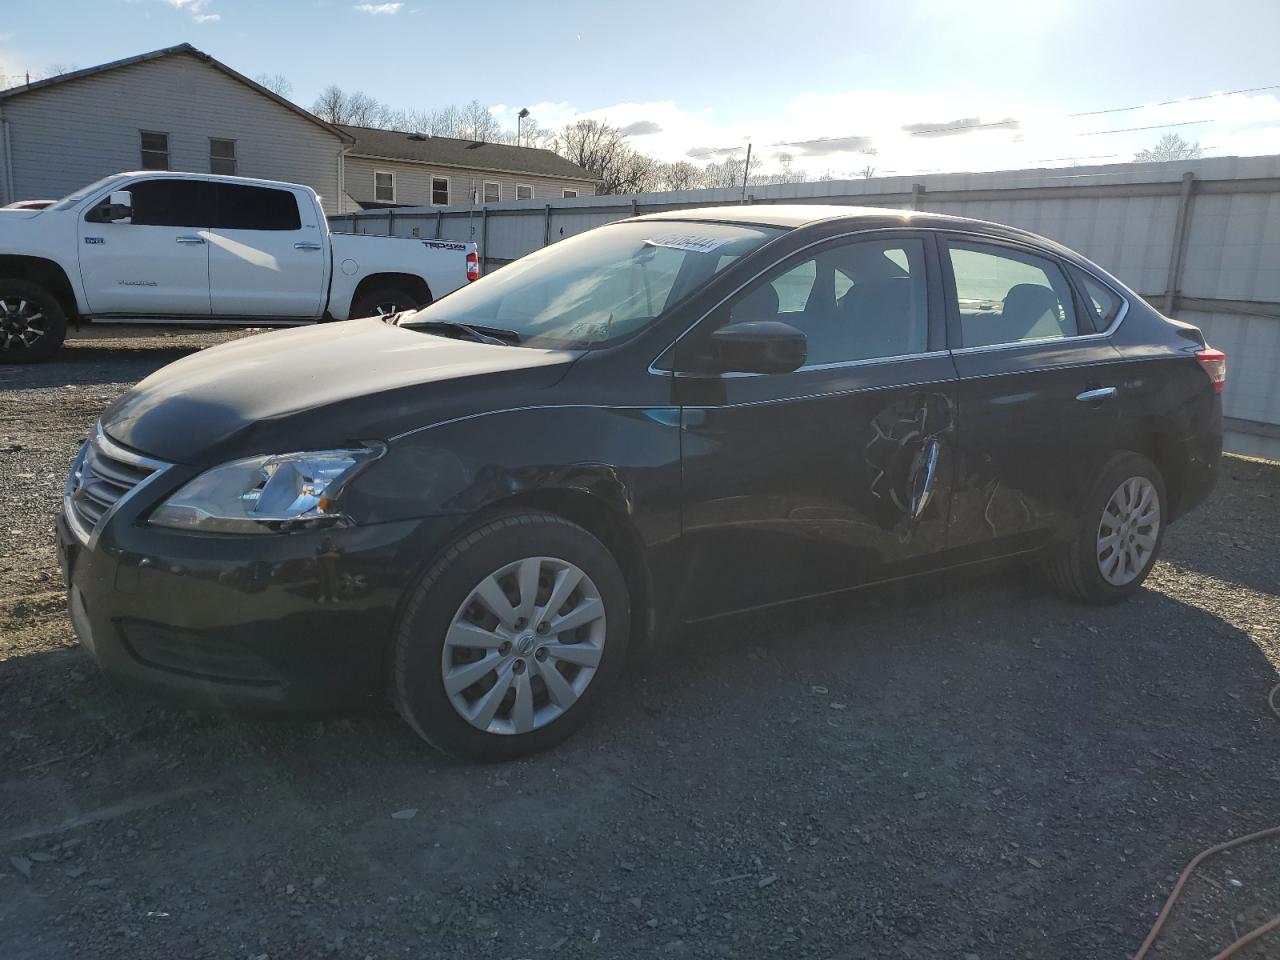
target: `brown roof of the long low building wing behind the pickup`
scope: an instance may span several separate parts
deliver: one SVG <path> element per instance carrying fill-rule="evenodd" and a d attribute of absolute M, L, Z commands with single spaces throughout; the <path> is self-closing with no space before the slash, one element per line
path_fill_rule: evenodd
<path fill-rule="evenodd" d="M 511 143 L 480 143 L 453 137 L 431 137 L 374 127 L 338 128 L 355 138 L 352 156 L 378 160 L 408 160 L 436 166 L 461 166 L 493 173 L 527 173 L 561 180 L 595 180 L 589 170 L 550 150 L 517 147 Z"/>

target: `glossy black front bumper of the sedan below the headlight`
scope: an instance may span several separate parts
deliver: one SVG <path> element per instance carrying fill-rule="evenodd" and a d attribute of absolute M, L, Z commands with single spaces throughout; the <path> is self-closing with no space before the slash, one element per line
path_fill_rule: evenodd
<path fill-rule="evenodd" d="M 58 520 L 72 623 L 102 671 L 188 703 L 279 712 L 383 698 L 401 598 L 452 529 L 212 536 L 118 521 L 87 549 Z"/>

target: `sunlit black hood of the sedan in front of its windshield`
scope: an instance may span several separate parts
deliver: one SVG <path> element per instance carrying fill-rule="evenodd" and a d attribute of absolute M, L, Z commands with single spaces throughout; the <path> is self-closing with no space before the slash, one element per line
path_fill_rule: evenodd
<path fill-rule="evenodd" d="M 247 337 L 151 374 L 102 415 L 118 443 L 202 466 L 385 440 L 529 403 L 580 356 L 436 337 L 378 317 Z"/>

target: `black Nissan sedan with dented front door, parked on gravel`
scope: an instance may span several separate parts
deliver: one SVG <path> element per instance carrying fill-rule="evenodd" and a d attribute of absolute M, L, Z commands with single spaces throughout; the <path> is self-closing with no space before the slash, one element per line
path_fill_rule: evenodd
<path fill-rule="evenodd" d="M 641 216 L 143 380 L 67 484 L 72 620 L 159 691 L 389 692 L 440 750 L 516 756 L 681 622 L 1016 554 L 1124 599 L 1213 485 L 1224 378 L 1023 230 Z"/>

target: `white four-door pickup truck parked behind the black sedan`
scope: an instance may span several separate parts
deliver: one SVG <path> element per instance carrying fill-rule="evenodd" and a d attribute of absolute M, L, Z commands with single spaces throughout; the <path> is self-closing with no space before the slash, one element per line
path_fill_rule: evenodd
<path fill-rule="evenodd" d="M 0 216 L 0 362 L 68 323 L 288 324 L 425 306 L 480 275 L 475 243 L 329 233 L 315 191 L 122 173 Z"/>

